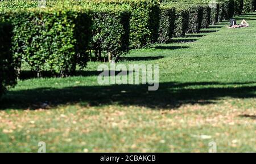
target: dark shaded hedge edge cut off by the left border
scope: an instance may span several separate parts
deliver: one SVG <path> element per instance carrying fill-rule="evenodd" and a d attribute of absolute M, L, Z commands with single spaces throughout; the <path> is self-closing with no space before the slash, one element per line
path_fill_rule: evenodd
<path fill-rule="evenodd" d="M 16 84 L 16 71 L 11 54 L 12 27 L 0 23 L 0 98 L 6 89 Z"/>

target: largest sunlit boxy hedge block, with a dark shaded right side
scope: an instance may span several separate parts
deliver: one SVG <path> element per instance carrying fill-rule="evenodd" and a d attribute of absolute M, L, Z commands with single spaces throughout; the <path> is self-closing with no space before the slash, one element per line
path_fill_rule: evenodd
<path fill-rule="evenodd" d="M 66 76 L 86 66 L 92 21 L 86 8 L 53 7 L 0 11 L 14 27 L 14 57 L 39 76 L 42 71 Z"/>

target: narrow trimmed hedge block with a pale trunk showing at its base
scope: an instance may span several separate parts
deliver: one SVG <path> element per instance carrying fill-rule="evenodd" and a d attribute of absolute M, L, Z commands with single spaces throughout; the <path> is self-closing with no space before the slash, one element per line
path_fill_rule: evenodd
<path fill-rule="evenodd" d="M 117 61 L 129 50 L 129 10 L 126 5 L 94 7 L 91 45 L 98 59 L 103 54 L 109 62 Z"/>

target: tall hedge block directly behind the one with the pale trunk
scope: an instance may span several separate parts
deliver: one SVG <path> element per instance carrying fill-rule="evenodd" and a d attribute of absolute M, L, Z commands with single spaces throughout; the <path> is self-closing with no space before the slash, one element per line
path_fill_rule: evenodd
<path fill-rule="evenodd" d="M 159 0 L 93 0 L 89 2 L 130 6 L 130 48 L 142 48 L 157 41 Z"/>

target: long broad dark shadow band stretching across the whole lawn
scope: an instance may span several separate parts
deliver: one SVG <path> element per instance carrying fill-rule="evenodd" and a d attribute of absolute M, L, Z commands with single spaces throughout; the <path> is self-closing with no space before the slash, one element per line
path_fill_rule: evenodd
<path fill-rule="evenodd" d="M 40 109 L 43 103 L 50 107 L 67 104 L 81 106 L 136 105 L 151 109 L 175 109 L 185 104 L 214 103 L 223 97 L 255 98 L 256 86 L 252 83 L 160 83 L 156 91 L 147 85 L 81 86 L 67 88 L 37 88 L 10 90 L 0 102 L 0 109 Z"/>

